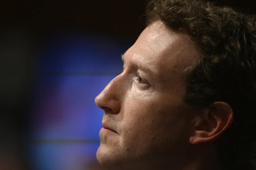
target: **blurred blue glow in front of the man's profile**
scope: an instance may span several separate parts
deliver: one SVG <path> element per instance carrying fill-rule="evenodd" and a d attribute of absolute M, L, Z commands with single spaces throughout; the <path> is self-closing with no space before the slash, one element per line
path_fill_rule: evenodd
<path fill-rule="evenodd" d="M 127 46 L 70 30 L 42 40 L 28 146 L 35 170 L 79 170 L 96 161 L 103 111 L 94 98 L 123 67 Z"/>

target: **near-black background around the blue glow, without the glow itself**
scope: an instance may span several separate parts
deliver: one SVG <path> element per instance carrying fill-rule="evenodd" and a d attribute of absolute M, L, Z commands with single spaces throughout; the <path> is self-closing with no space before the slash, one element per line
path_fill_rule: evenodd
<path fill-rule="evenodd" d="M 248 14 L 256 1 L 219 0 Z M 33 102 L 38 43 L 59 28 L 135 41 L 144 28 L 145 1 L 1 1 L 1 163 L 0 169 L 29 169 L 25 155 Z"/>

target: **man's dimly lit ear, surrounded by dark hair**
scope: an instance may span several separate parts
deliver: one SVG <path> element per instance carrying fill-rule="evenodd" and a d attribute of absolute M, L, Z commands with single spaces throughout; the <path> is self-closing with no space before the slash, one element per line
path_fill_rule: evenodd
<path fill-rule="evenodd" d="M 209 142 L 220 136 L 233 122 L 233 110 L 225 102 L 214 102 L 210 108 L 194 121 L 193 133 L 190 137 L 191 144 Z"/>

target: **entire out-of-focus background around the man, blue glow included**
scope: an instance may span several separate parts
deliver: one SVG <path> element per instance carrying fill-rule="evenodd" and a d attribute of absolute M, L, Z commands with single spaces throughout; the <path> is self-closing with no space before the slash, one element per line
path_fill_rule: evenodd
<path fill-rule="evenodd" d="M 255 1 L 217 1 L 255 13 Z M 1 170 L 103 169 L 94 98 L 144 28 L 142 0 L 1 1 Z"/>

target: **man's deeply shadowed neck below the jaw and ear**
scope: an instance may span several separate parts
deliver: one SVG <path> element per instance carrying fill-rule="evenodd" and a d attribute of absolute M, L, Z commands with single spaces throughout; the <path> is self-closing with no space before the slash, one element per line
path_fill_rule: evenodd
<path fill-rule="evenodd" d="M 152 158 L 141 163 L 125 163 L 110 170 L 221 170 L 214 144 L 211 142 L 191 144 L 190 147 L 180 150 L 179 155 L 166 155 L 164 158 Z"/>

